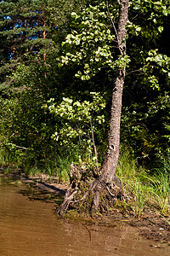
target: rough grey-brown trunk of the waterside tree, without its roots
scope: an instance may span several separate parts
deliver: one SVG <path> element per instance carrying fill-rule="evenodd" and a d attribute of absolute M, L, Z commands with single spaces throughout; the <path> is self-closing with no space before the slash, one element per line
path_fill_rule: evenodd
<path fill-rule="evenodd" d="M 126 55 L 126 25 L 128 18 L 128 0 L 120 0 L 119 6 L 119 21 L 116 36 L 118 42 L 118 49 L 120 51 L 120 55 L 123 57 Z M 102 176 L 105 179 L 106 183 L 111 183 L 111 181 L 117 181 L 116 166 L 119 158 L 122 89 L 125 79 L 125 71 L 126 67 L 122 67 L 118 70 L 115 87 L 112 92 L 108 149 L 105 161 L 102 166 Z"/>

